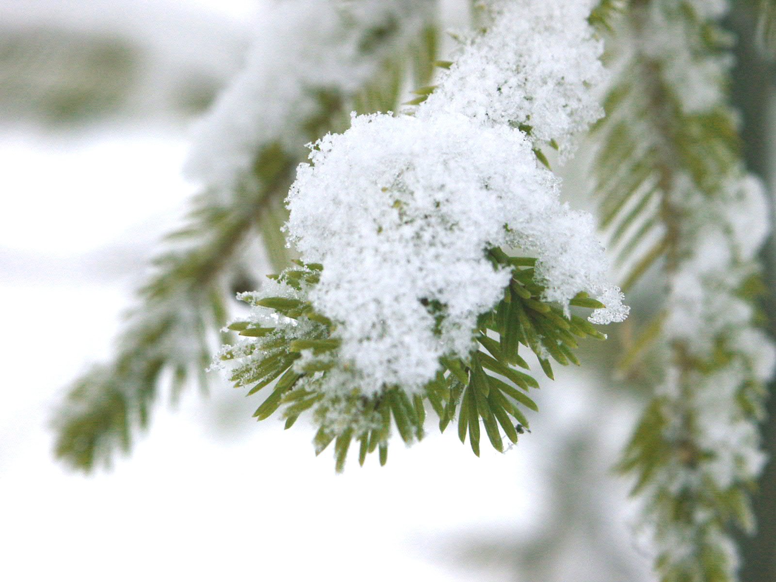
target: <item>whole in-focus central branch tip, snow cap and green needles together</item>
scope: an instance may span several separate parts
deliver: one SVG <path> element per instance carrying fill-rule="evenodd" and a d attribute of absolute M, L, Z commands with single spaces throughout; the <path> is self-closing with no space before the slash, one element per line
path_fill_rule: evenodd
<path fill-rule="evenodd" d="M 540 149 L 570 151 L 601 116 L 590 10 L 493 2 L 417 108 L 314 144 L 287 199 L 300 268 L 244 296 L 251 317 L 230 327 L 250 339 L 220 355 L 251 392 L 279 378 L 259 418 L 312 409 L 341 468 L 352 439 L 384 462 L 393 424 L 420 438 L 429 400 L 442 430 L 458 409 L 462 440 L 479 453 L 483 424 L 501 450 L 535 410 L 518 345 L 552 377 L 550 358 L 577 363 L 577 338 L 603 337 L 590 321 L 625 319 L 594 222 L 559 202 Z"/>

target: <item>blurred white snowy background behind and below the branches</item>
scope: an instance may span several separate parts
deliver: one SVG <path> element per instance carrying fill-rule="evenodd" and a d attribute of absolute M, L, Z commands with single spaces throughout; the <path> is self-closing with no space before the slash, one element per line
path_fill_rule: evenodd
<path fill-rule="evenodd" d="M 477 459 L 430 431 L 383 468 L 368 459 L 336 476 L 312 428 L 256 424 L 255 400 L 210 374 L 205 397 L 168 406 L 163 394 L 112 469 L 54 461 L 54 407 L 110 357 L 148 259 L 181 222 L 196 193 L 182 177 L 189 127 L 239 70 L 266 3 L 0 0 L 3 577 L 650 580 L 629 483 L 611 469 L 646 396 L 611 372 L 629 323 L 587 346 L 582 369 L 556 372 L 532 432 L 504 454 Z M 745 36 L 737 58 L 747 158 L 772 185 L 772 65 Z M 582 189 L 566 196 L 587 203 Z M 645 318 L 657 300 L 629 297 Z M 757 570 L 776 528 L 764 490 L 762 533 L 744 550 L 758 582 L 776 579 Z"/>

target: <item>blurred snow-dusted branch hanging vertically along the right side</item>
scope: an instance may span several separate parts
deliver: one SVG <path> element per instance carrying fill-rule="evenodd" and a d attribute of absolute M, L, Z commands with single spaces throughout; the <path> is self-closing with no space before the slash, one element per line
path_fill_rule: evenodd
<path fill-rule="evenodd" d="M 635 2 L 598 154 L 601 215 L 634 284 L 663 259 L 667 298 L 625 356 L 664 375 L 622 469 L 636 476 L 661 580 L 736 580 L 730 521 L 753 527 L 757 421 L 776 353 L 757 324 L 763 186 L 740 157 L 715 22 L 728 3 Z M 634 258 L 635 255 L 635 258 Z"/>

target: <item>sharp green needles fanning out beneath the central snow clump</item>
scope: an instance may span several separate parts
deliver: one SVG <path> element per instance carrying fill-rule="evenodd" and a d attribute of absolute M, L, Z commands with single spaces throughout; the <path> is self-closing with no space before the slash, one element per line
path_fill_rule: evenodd
<path fill-rule="evenodd" d="M 494 268 L 511 268 L 512 279 L 504 299 L 480 317 L 474 331 L 483 349 L 473 350 L 466 359 L 440 359 L 436 378 L 418 393 L 408 394 L 400 386 L 376 394 L 359 389 L 357 379 L 354 383 L 348 375 L 348 366 L 342 367 L 336 326 L 305 299 L 320 280 L 321 265 L 302 262 L 298 268 L 272 275 L 276 281 L 272 290 L 278 296 L 241 296 L 253 307 L 251 318 L 234 321 L 229 329 L 247 339 L 223 348 L 221 365 L 229 367 L 234 386 L 248 389 L 249 395 L 272 386 L 254 414 L 259 421 L 282 409 L 290 428 L 300 415 L 311 414 L 318 427 L 316 454 L 334 442 L 338 472 L 344 469 L 354 441 L 359 442 L 359 464 L 378 450 L 382 465 L 394 427 L 408 445 L 423 438 L 427 404 L 438 416 L 440 431 L 457 415 L 459 438 L 465 442 L 468 436 L 477 456 L 480 425 L 494 449 L 503 451 L 504 438 L 516 443 L 518 434 L 528 428 L 524 408 L 538 411 L 528 392 L 539 388 L 539 382 L 518 370 L 529 369 L 519 346 L 532 351 L 542 371 L 553 379 L 549 359 L 560 365 L 580 365 L 573 354 L 578 340 L 606 336 L 584 318 L 566 315 L 561 307 L 542 300 L 545 288 L 534 278 L 535 259 L 511 257 L 499 249 L 491 250 L 489 257 Z M 604 307 L 585 294 L 572 304 Z M 427 307 L 442 317 L 441 306 L 429 303 Z M 327 390 L 331 376 L 343 390 Z"/>

